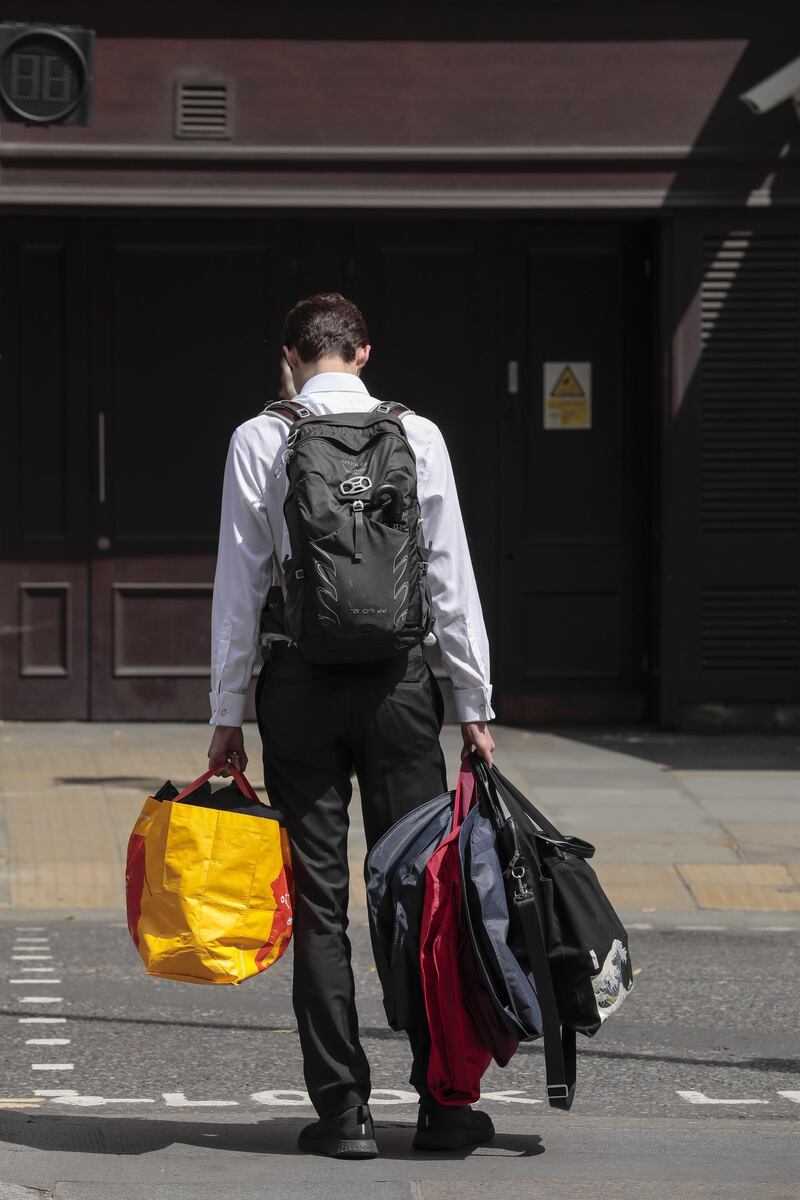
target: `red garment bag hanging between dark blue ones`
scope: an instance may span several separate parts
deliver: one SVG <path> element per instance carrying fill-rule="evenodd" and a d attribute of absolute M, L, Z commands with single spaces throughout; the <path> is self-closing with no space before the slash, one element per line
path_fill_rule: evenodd
<path fill-rule="evenodd" d="M 505 1067 L 517 1040 L 500 1025 L 473 956 L 464 917 L 458 833 L 475 804 L 475 773 L 462 760 L 450 833 L 428 860 L 420 973 L 431 1030 L 428 1087 L 440 1104 L 473 1104 L 492 1058 Z"/>

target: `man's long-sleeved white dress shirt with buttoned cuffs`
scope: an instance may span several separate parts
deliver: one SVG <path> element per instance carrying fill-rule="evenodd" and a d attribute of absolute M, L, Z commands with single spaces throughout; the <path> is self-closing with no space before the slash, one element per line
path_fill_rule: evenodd
<path fill-rule="evenodd" d="M 297 401 L 320 415 L 363 413 L 377 403 L 361 379 L 345 372 L 313 376 Z M 433 421 L 416 414 L 402 420 L 416 455 L 425 541 L 433 544 L 428 582 L 435 622 L 426 643 L 439 643 L 458 720 L 488 721 L 494 716 L 489 646 L 447 448 Z M 282 461 L 288 434 L 282 418 L 261 413 L 230 439 L 211 608 L 211 725 L 242 724 L 273 565 L 282 582 L 289 553 Z"/>

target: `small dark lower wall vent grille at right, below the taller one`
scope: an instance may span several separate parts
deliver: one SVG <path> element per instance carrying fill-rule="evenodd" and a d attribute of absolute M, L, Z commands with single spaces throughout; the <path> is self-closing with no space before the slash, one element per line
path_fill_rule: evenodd
<path fill-rule="evenodd" d="M 703 588 L 700 661 L 704 671 L 800 668 L 800 588 Z"/>

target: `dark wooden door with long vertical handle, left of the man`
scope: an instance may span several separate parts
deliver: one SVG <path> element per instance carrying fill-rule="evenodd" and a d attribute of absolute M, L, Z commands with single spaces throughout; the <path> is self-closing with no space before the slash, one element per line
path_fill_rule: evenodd
<path fill-rule="evenodd" d="M 277 389 L 285 230 L 109 222 L 92 278 L 90 713 L 201 719 L 222 470 Z"/>

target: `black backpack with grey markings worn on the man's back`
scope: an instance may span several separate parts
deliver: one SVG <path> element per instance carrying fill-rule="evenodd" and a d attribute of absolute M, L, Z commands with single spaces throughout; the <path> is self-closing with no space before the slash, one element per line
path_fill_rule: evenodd
<path fill-rule="evenodd" d="M 360 662 L 419 644 L 433 625 L 416 460 L 404 404 L 312 414 L 297 401 L 265 413 L 291 426 L 283 461 L 283 624 L 312 662 Z"/>

